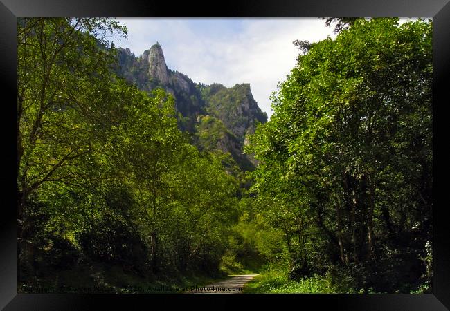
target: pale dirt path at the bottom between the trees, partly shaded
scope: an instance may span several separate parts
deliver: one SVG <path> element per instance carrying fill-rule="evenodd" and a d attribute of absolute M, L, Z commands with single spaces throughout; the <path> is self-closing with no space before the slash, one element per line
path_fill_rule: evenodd
<path fill-rule="evenodd" d="M 244 284 L 258 274 L 233 275 L 230 279 L 219 281 L 210 285 L 196 286 L 186 294 L 242 294 Z"/>

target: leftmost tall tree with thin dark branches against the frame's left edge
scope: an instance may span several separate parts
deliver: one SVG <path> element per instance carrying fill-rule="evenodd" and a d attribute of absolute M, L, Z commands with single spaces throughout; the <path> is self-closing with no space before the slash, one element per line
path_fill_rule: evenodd
<path fill-rule="evenodd" d="M 18 19 L 17 208 L 19 242 L 33 223 L 30 198 L 48 182 L 77 184 L 105 129 L 114 62 L 107 19 Z M 107 126 L 107 124 L 106 124 Z M 26 246 L 29 243 L 21 245 Z"/>

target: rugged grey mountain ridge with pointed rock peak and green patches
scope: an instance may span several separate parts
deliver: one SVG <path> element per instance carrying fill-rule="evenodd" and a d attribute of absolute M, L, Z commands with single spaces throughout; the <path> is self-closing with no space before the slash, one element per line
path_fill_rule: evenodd
<path fill-rule="evenodd" d="M 118 59 L 118 73 L 128 82 L 147 92 L 160 87 L 174 96 L 179 127 L 192 133 L 199 149 L 230 153 L 241 169 L 253 169 L 255 160 L 242 149 L 246 135 L 255 132 L 258 122 L 267 122 L 267 115 L 253 98 L 250 84 L 226 88 L 192 82 L 167 67 L 159 43 L 139 57 L 119 48 Z"/>

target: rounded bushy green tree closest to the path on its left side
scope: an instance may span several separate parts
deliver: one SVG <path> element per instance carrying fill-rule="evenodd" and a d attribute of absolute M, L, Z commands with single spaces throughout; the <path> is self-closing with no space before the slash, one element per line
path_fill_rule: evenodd
<path fill-rule="evenodd" d="M 231 225 L 237 222 L 237 187 L 222 159 L 185 145 L 179 164 L 165 181 L 172 186 L 173 214 L 181 270 L 215 272 L 225 252 Z M 181 225 L 182 224 L 182 225 Z"/>

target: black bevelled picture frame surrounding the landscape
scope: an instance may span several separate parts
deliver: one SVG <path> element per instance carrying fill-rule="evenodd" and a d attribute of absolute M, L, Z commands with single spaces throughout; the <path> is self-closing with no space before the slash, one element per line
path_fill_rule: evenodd
<path fill-rule="evenodd" d="M 433 294 L 17 294 L 17 17 L 433 17 Z M 236 303 L 283 305 L 332 310 L 449 310 L 450 223 L 444 202 L 445 156 L 435 151 L 436 138 L 444 139 L 438 125 L 444 121 L 450 73 L 449 0 L 308 0 L 308 1 L 207 1 L 154 0 L 1 0 L 0 76 L 3 115 L 0 214 L 0 307 L 4 310 L 134 309 L 136 303 L 153 308 L 181 303 L 181 308 L 235 308 Z M 440 169 L 436 169 L 439 165 Z M 438 178 L 436 178 L 438 176 Z M 439 178 L 441 176 L 442 178 Z M 436 182 L 438 180 L 438 182 Z M 438 188 L 436 188 L 438 187 Z M 438 189 L 438 190 L 436 190 Z M 95 307 L 94 307 L 95 306 Z M 292 307 L 285 308 L 292 308 Z M 95 309 L 94 309 L 95 308 Z"/>

